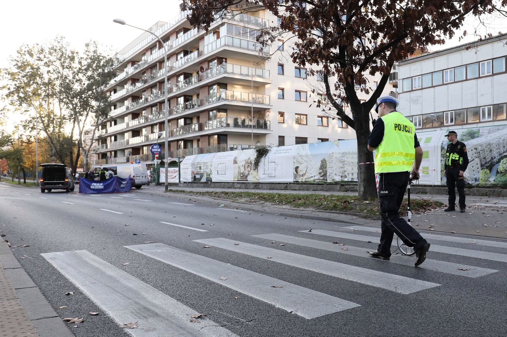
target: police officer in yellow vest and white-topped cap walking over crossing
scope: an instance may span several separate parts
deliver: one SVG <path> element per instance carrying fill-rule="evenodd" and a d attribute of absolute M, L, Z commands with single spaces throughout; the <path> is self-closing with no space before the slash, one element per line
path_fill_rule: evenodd
<path fill-rule="evenodd" d="M 382 234 L 378 249 L 371 256 L 389 260 L 394 233 L 416 252 L 415 266 L 426 259 L 429 243 L 405 219 L 400 217 L 400 206 L 412 178 L 419 177 L 422 149 L 415 134 L 414 124 L 396 111 L 398 100 L 392 96 L 377 99 L 379 118 L 368 137 L 368 150 L 375 153 L 375 173 L 379 175 L 379 203 Z M 414 165 L 415 159 L 415 165 Z"/>

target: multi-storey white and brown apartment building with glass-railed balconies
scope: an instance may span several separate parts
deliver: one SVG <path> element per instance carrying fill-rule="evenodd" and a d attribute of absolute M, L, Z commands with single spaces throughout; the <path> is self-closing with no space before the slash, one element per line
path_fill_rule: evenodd
<path fill-rule="evenodd" d="M 162 145 L 161 158 L 164 153 L 159 132 L 167 133 L 170 157 L 355 138 L 345 123 L 315 107 L 319 95 L 311 91 L 319 80 L 281 57 L 290 46 L 278 41 L 263 49 L 256 42 L 260 28 L 277 23 L 272 13 L 231 15 L 208 31 L 192 27 L 187 14 L 151 28 L 164 41 L 167 64 L 161 43 L 148 33 L 119 53 L 118 75 L 106 89 L 113 107 L 95 138 L 95 164 L 153 163 L 152 144 Z M 385 94 L 395 91 L 396 79 Z"/>

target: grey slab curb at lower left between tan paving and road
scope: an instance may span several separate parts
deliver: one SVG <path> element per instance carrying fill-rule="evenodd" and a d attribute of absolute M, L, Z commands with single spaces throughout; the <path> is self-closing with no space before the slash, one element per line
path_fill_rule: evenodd
<path fill-rule="evenodd" d="M 74 337 L 3 240 L 0 242 L 0 257 L 19 302 L 39 337 Z"/>

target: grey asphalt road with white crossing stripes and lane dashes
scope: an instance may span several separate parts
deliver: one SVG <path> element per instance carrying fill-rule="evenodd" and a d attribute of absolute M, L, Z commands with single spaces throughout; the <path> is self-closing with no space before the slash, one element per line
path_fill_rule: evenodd
<path fill-rule="evenodd" d="M 3 184 L 0 230 L 78 337 L 505 335 L 500 239 L 430 234 L 415 268 L 370 258 L 371 226 Z"/>

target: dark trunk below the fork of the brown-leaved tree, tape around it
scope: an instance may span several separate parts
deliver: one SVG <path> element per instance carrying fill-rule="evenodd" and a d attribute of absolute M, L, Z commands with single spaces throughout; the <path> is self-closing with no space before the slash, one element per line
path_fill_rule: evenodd
<path fill-rule="evenodd" d="M 370 130 L 356 130 L 358 163 L 373 162 L 373 152 L 368 150 L 368 136 Z M 377 198 L 374 164 L 359 165 L 360 186 L 357 195 L 361 200 Z"/>

